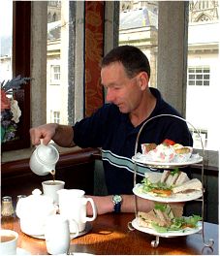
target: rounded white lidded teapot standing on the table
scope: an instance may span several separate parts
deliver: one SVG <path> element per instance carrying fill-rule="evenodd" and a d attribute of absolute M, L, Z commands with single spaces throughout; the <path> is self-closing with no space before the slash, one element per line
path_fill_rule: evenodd
<path fill-rule="evenodd" d="M 20 229 L 29 236 L 45 234 L 47 217 L 56 214 L 57 207 L 52 199 L 42 195 L 40 189 L 32 191 L 32 195 L 21 198 L 16 204 L 16 215 L 20 219 Z"/>

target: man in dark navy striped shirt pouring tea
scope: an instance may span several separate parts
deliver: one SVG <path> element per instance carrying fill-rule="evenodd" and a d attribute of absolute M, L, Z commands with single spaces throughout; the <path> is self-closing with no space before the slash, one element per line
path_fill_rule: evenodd
<path fill-rule="evenodd" d="M 132 195 L 134 163 L 131 158 L 135 154 L 142 124 L 159 114 L 180 115 L 162 99 L 157 89 L 148 87 L 150 66 L 139 48 L 113 48 L 104 57 L 101 68 L 101 80 L 109 103 L 73 127 L 53 123 L 32 128 L 31 141 L 32 144 L 40 144 L 40 138 L 43 138 L 44 144 L 53 140 L 60 146 L 102 147 L 109 196 L 93 197 L 98 213 L 113 210 L 131 212 L 135 210 Z M 139 151 L 143 143 L 161 144 L 165 139 L 178 144 L 192 144 L 186 123 L 166 115 L 154 118 L 144 126 Z M 138 207 L 149 211 L 152 203 L 138 198 Z"/>

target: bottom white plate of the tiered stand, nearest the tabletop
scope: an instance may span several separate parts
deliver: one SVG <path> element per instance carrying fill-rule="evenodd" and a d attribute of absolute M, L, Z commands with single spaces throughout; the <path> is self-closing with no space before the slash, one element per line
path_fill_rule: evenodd
<path fill-rule="evenodd" d="M 175 237 L 189 236 L 189 235 L 198 233 L 202 230 L 202 222 L 200 222 L 200 221 L 198 222 L 198 227 L 196 229 L 188 228 L 188 229 L 184 229 L 182 231 L 170 231 L 170 232 L 166 232 L 166 233 L 158 233 L 153 229 L 140 227 L 137 218 L 135 218 L 132 221 L 132 226 L 135 229 L 137 229 L 143 233 L 147 233 L 147 234 L 154 235 L 157 237 L 162 237 L 162 238 L 175 238 Z"/>

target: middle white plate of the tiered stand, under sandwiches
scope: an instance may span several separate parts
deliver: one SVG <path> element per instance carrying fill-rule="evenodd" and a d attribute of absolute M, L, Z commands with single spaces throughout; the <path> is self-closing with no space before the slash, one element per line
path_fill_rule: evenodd
<path fill-rule="evenodd" d="M 172 194 L 169 197 L 160 197 L 157 194 L 154 193 L 142 193 L 141 192 L 141 187 L 142 184 L 138 183 L 134 188 L 133 188 L 133 193 L 141 197 L 143 199 L 148 199 L 156 202 L 162 202 L 162 203 L 171 203 L 171 202 L 186 202 L 186 201 L 192 201 L 198 198 L 201 198 L 203 196 L 203 191 L 202 190 L 195 190 L 189 193 L 177 193 L 177 194 Z"/>

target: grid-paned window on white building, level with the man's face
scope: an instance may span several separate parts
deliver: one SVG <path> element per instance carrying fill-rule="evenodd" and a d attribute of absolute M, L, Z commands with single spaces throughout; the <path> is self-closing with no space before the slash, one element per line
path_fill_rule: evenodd
<path fill-rule="evenodd" d="M 189 67 L 188 85 L 209 86 L 210 69 L 209 67 Z"/>

